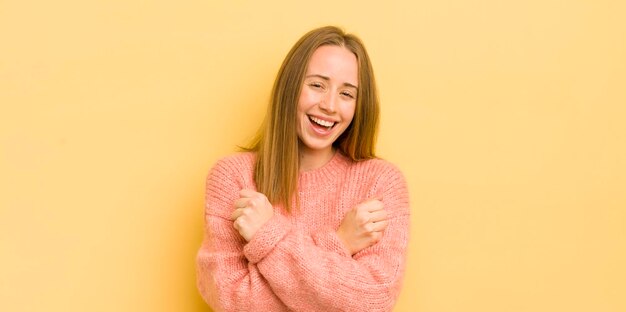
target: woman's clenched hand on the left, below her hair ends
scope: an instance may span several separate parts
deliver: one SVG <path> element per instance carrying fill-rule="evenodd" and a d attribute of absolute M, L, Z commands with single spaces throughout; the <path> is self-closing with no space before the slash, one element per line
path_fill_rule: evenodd
<path fill-rule="evenodd" d="M 254 234 L 274 216 L 274 207 L 262 193 L 243 189 L 234 203 L 235 211 L 230 216 L 233 227 L 249 242 Z"/>

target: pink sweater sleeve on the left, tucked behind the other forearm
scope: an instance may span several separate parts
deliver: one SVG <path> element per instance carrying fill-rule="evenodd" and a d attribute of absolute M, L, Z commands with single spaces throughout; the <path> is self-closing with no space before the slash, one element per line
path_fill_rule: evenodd
<path fill-rule="evenodd" d="M 198 290 L 215 311 L 287 311 L 257 266 L 244 257 L 245 240 L 230 220 L 245 184 L 239 167 L 222 160 L 207 177 L 205 232 L 196 258 Z"/>

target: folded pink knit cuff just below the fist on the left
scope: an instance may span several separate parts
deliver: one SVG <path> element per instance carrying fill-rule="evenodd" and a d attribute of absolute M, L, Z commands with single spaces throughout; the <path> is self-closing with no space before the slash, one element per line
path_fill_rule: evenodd
<path fill-rule="evenodd" d="M 243 246 L 243 254 L 252 264 L 263 260 L 290 230 L 289 221 L 284 216 L 274 213 L 274 216 Z"/>

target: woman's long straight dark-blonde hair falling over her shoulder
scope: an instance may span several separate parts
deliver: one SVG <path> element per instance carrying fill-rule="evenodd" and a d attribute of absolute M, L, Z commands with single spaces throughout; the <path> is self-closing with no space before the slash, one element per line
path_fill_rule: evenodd
<path fill-rule="evenodd" d="M 298 205 L 299 148 L 296 132 L 298 99 L 311 55 L 320 46 L 345 47 L 357 58 L 358 93 L 354 117 L 333 146 L 353 161 L 375 158 L 379 100 L 372 65 L 361 40 L 343 30 L 326 26 L 305 34 L 283 61 L 270 98 L 267 115 L 249 147 L 257 154 L 254 180 L 257 190 L 272 204 L 288 211 Z"/>

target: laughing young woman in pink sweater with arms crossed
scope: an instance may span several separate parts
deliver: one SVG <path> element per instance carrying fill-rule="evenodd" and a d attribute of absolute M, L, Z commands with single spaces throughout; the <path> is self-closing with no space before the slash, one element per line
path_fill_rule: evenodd
<path fill-rule="evenodd" d="M 304 35 L 247 152 L 206 189 L 198 288 L 217 311 L 390 311 L 404 274 L 402 174 L 374 155 L 378 96 L 361 41 Z"/>

